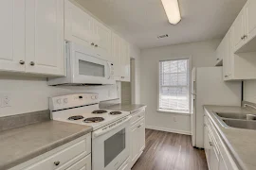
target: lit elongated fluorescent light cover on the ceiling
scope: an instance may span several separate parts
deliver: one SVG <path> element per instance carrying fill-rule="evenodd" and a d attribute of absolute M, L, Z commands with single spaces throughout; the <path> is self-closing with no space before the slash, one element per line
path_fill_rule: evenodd
<path fill-rule="evenodd" d="M 178 0 L 162 0 L 168 20 L 171 24 L 176 25 L 181 20 Z"/>

